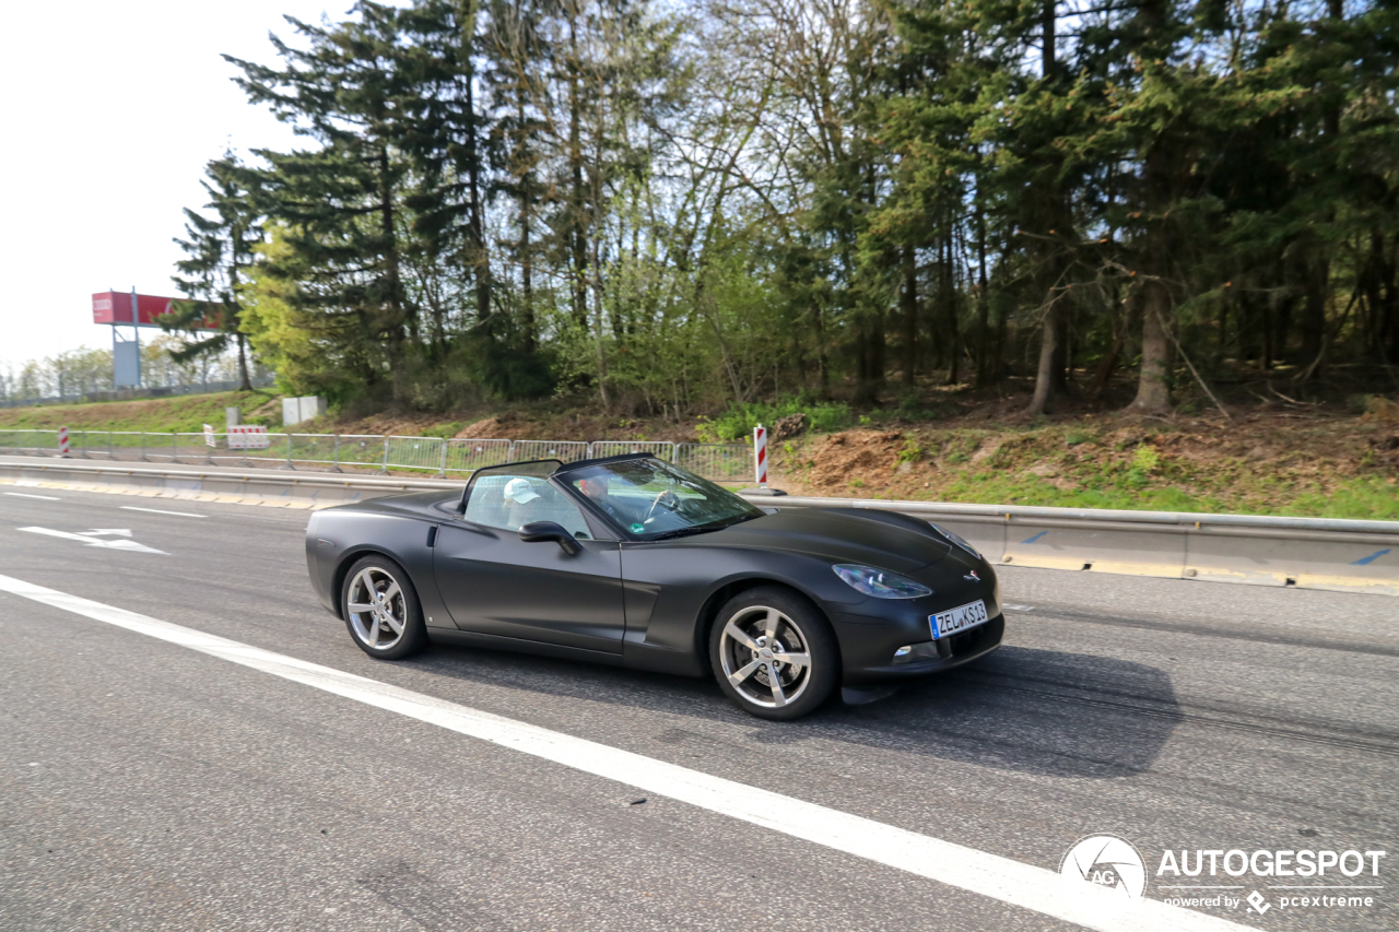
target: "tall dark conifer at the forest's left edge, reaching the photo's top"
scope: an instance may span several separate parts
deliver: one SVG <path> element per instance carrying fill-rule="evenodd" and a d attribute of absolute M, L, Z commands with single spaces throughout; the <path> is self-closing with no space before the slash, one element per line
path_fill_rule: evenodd
<path fill-rule="evenodd" d="M 333 27 L 288 17 L 309 48 L 273 36 L 283 69 L 225 57 L 243 71 L 236 81 L 253 102 L 267 104 L 320 144 L 257 153 L 270 164 L 267 189 L 287 228 L 288 256 L 281 262 L 301 273 L 288 301 L 350 318 L 368 358 L 382 354 L 364 379 L 374 388 L 386 369 L 393 396 L 410 400 L 410 355 L 421 333 L 403 280 L 411 220 L 402 143 L 411 85 L 400 67 L 402 14 L 365 0 L 353 13 L 357 18 Z"/>

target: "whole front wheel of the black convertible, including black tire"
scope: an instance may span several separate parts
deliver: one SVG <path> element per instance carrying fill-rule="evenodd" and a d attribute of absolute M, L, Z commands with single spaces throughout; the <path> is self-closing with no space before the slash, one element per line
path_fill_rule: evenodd
<path fill-rule="evenodd" d="M 765 654 L 772 635 L 778 649 Z M 802 656 L 806 663 L 783 663 L 782 656 Z M 841 682 L 831 626 L 804 596 L 775 585 L 741 592 L 719 609 L 709 630 L 709 663 L 734 705 L 779 722 L 813 712 Z"/>

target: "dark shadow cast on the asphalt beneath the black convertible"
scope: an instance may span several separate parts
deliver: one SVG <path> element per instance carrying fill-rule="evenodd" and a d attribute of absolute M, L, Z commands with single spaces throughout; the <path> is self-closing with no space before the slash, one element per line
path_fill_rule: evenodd
<path fill-rule="evenodd" d="M 434 648 L 407 665 L 434 676 L 536 693 L 541 702 L 576 698 L 660 714 L 649 735 L 645 718 L 628 716 L 618 725 L 630 736 L 628 746 L 641 753 L 645 749 L 631 742 L 718 743 L 757 751 L 844 742 L 1017 772 L 1111 779 L 1151 767 L 1184 718 L 1171 677 L 1161 669 L 1013 645 L 902 686 L 876 702 L 832 700 L 797 722 L 746 715 L 712 680 L 455 647 Z M 674 715 L 694 725 L 676 726 Z"/>

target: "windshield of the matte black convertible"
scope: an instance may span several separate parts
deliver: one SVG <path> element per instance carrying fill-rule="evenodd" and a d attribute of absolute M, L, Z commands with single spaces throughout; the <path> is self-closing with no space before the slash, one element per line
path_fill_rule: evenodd
<path fill-rule="evenodd" d="M 571 469 L 561 479 L 642 540 L 718 530 L 762 515 L 732 491 L 649 456 Z"/>

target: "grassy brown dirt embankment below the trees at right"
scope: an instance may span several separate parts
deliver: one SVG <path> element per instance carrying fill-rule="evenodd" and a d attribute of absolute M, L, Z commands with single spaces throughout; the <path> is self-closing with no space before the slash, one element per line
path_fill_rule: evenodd
<path fill-rule="evenodd" d="M 1399 518 L 1399 417 L 1084 417 L 1038 428 L 904 427 L 772 452 L 792 494 Z"/>

